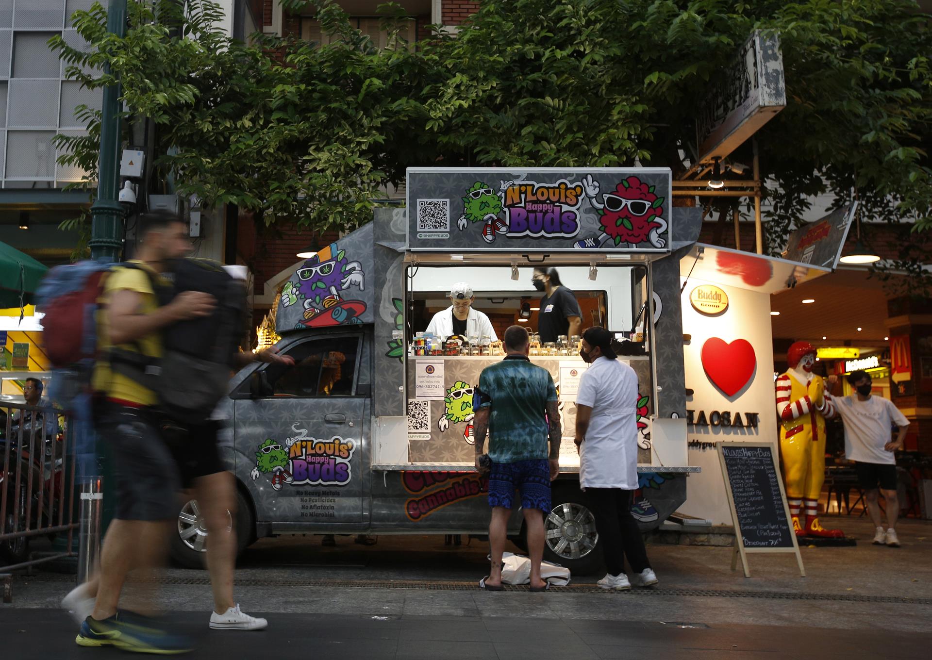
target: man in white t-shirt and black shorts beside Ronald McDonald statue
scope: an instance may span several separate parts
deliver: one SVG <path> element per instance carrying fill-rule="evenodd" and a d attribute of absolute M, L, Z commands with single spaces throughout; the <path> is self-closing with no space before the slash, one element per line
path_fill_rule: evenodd
<path fill-rule="evenodd" d="M 867 372 L 853 371 L 847 378 L 857 394 L 832 399 L 844 422 L 844 455 L 848 461 L 855 461 L 857 482 L 864 489 L 864 500 L 876 528 L 873 543 L 899 547 L 895 529 L 899 514 L 897 459 L 893 452 L 903 448 L 910 421 L 892 401 L 871 396 Z M 836 376 L 829 377 L 831 384 L 837 380 Z M 897 439 L 891 440 L 894 425 L 899 427 L 899 432 Z M 878 489 L 886 501 L 885 532 L 877 502 Z"/>

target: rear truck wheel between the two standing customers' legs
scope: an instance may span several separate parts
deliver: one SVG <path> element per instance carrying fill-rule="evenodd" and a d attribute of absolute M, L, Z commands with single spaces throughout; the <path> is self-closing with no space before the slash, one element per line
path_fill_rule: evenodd
<path fill-rule="evenodd" d="M 544 517 L 543 530 L 547 561 L 576 575 L 591 575 L 602 567 L 596 518 L 579 488 L 554 488 L 553 508 Z"/>

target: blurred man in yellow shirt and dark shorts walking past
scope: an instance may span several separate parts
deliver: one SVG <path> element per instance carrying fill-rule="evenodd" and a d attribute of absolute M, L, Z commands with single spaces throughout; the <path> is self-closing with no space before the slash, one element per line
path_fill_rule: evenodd
<path fill-rule="evenodd" d="M 158 306 L 152 282 L 158 281 L 158 273 L 171 260 L 190 249 L 185 223 L 175 216 L 154 214 L 140 220 L 140 235 L 133 268 L 115 269 L 103 285 L 98 318 L 102 355 L 112 356 L 111 349 L 118 349 L 158 358 L 164 327 L 206 316 L 214 307 L 212 297 L 199 292 L 185 292 L 169 305 Z M 137 613 L 117 613 L 131 569 L 152 584 L 152 571 L 163 563 L 170 521 L 177 514 L 178 469 L 159 433 L 158 397 L 107 359 L 96 364 L 93 386 L 104 397 L 98 432 L 110 447 L 117 511 L 103 539 L 93 612 L 75 641 L 80 646 L 114 645 L 141 653 L 184 653 L 190 650 L 186 639 L 138 615 L 153 612 L 151 598 L 140 603 Z"/>

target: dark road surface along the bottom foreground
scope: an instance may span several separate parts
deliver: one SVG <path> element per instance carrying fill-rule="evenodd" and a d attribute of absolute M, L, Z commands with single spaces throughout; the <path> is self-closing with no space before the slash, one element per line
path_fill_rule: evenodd
<path fill-rule="evenodd" d="M 489 598 L 496 595 L 488 594 Z M 528 595 L 529 596 L 529 595 Z M 526 596 L 525 598 L 528 598 Z M 534 594 L 531 598 L 547 598 Z M 75 646 L 74 626 L 62 612 L 23 610 L 0 618 L 4 657 L 118 657 L 112 649 Z M 699 613 L 699 612 L 697 612 Z M 664 660 L 856 660 L 926 658 L 932 634 L 815 627 L 703 626 L 659 622 L 535 619 L 513 616 L 351 616 L 267 614 L 261 632 L 212 631 L 203 614 L 175 612 L 173 620 L 196 641 L 191 658 L 322 657 L 360 660 L 445 658 L 664 658 Z"/>

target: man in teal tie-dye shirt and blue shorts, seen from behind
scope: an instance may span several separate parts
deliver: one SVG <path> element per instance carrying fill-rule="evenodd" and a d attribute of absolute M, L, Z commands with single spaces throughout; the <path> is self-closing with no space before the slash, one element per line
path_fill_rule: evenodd
<path fill-rule="evenodd" d="M 492 461 L 488 477 L 492 566 L 479 583 L 488 591 L 503 589 L 501 555 L 515 489 L 521 495 L 528 530 L 530 590 L 545 591 L 549 586 L 541 579 L 543 516 L 550 513 L 550 482 L 560 469 L 560 413 L 554 379 L 546 369 L 530 364 L 529 343 L 528 331 L 512 325 L 505 331 L 504 360 L 487 366 L 479 376 L 479 404 L 473 421 L 476 470 L 486 470 L 481 457 L 487 434 L 488 457 Z"/>

